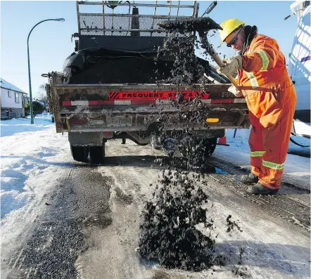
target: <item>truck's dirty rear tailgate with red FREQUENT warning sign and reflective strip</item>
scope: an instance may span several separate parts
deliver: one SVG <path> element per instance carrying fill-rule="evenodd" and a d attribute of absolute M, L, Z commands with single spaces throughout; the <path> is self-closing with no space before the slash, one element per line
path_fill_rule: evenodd
<path fill-rule="evenodd" d="M 244 98 L 234 98 L 230 84 L 61 84 L 50 77 L 49 100 L 56 131 L 147 131 L 166 129 L 248 128 Z M 58 76 L 58 81 L 60 80 Z M 218 119 L 206 122 L 207 118 Z"/>

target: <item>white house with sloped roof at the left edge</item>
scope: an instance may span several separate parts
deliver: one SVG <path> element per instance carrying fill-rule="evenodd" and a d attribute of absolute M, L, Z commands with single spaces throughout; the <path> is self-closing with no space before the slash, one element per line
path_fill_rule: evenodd
<path fill-rule="evenodd" d="M 1 119 L 25 117 L 27 93 L 1 78 Z"/>

